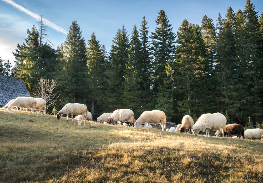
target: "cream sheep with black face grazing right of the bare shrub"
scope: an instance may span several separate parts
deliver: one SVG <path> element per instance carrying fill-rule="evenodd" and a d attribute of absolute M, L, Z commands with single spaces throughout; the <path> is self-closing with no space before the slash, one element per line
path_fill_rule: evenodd
<path fill-rule="evenodd" d="M 84 105 L 84 104 L 78 104 L 78 103 L 71 104 L 71 103 L 68 103 L 68 104 L 64 105 L 64 107 L 60 111 L 58 111 L 57 119 L 59 120 L 63 114 L 67 114 L 68 115 L 67 116 L 67 121 L 68 121 L 69 114 L 71 114 L 72 122 L 74 122 L 73 115 L 80 115 L 80 114 L 82 114 L 82 120 L 81 120 L 80 123 L 82 123 L 83 118 L 84 118 L 84 120 L 85 120 L 84 125 L 86 125 L 86 118 L 88 116 L 88 109 L 87 109 L 87 106 Z M 78 121 L 78 126 L 80 125 L 80 123 Z"/>

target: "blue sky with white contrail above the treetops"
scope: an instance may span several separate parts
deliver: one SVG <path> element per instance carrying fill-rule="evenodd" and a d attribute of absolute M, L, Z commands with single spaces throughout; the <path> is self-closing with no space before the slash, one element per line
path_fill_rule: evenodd
<path fill-rule="evenodd" d="M 251 2 L 260 15 L 263 1 Z M 224 18 L 229 7 L 237 12 L 244 10 L 245 5 L 246 0 L 0 0 L 0 56 L 14 66 L 12 52 L 16 51 L 17 44 L 25 42 L 27 29 L 34 24 L 38 26 L 40 14 L 45 18 L 45 34 L 54 49 L 64 43 L 72 21 L 76 20 L 86 44 L 94 32 L 99 44 L 109 52 L 117 30 L 124 25 L 130 37 L 134 24 L 140 29 L 143 16 L 148 22 L 149 35 L 154 32 L 160 10 L 164 10 L 176 33 L 184 19 L 201 25 L 206 15 L 216 25 L 219 13 Z"/>

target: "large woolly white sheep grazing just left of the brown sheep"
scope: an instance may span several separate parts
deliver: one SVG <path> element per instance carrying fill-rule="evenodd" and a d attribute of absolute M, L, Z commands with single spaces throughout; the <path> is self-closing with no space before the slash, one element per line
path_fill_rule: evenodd
<path fill-rule="evenodd" d="M 198 118 L 198 120 L 192 127 L 195 135 L 198 135 L 200 131 L 203 131 L 205 132 L 205 137 L 210 137 L 209 130 L 218 130 L 218 134 L 216 136 L 218 137 L 220 129 L 222 128 L 222 134 L 224 138 L 224 130 L 226 128 L 226 117 L 220 113 L 203 114 Z"/>

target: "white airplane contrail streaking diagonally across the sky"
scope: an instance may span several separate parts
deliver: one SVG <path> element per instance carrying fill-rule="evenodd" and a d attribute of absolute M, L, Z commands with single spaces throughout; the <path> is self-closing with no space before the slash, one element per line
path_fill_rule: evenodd
<path fill-rule="evenodd" d="M 26 9 L 26 8 L 24 8 L 23 6 L 15 3 L 14 1 L 11 1 L 11 0 L 2 0 L 2 1 L 4 1 L 4 2 L 6 2 L 6 3 L 8 3 L 8 4 L 11 4 L 13 7 L 21 10 L 22 12 L 30 15 L 31 17 L 33 17 L 33 18 L 35 18 L 35 19 L 37 19 L 37 20 L 40 20 L 40 16 L 39 16 L 39 15 L 37 15 L 36 13 L 33 13 L 33 12 L 29 11 L 28 9 Z M 47 26 L 51 27 L 52 29 L 55 29 L 55 30 L 57 30 L 57 31 L 59 31 L 59 32 L 62 32 L 62 33 L 64 33 L 64 34 L 68 34 L 68 31 L 66 31 L 65 29 L 62 29 L 61 27 L 57 26 L 56 24 L 52 23 L 51 21 L 49 21 L 49 20 L 47 20 L 47 19 L 45 19 L 45 18 L 43 18 L 43 17 L 42 17 L 42 19 L 44 20 L 45 24 L 46 24 Z"/>

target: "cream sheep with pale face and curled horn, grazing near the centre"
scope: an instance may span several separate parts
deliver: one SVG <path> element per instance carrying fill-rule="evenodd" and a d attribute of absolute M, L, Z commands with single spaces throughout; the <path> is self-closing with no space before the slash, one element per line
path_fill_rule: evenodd
<path fill-rule="evenodd" d="M 148 125 L 149 123 L 154 123 L 154 124 L 160 123 L 162 127 L 162 131 L 164 131 L 166 125 L 165 113 L 159 110 L 144 111 L 134 123 L 134 127 L 138 128 L 142 123 L 145 124 L 148 123 Z M 149 126 L 149 130 L 150 130 L 150 126 Z"/>

